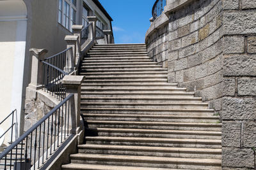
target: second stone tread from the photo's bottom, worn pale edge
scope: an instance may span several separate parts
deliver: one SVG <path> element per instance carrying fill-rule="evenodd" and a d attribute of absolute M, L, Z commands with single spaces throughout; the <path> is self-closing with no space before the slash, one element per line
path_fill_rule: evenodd
<path fill-rule="evenodd" d="M 177 157 L 148 157 L 148 156 L 134 156 L 134 155 L 100 155 L 100 154 L 88 154 L 88 153 L 76 153 L 70 155 L 71 158 L 95 158 L 95 159 L 107 159 L 111 160 L 140 160 L 150 162 L 163 162 L 168 164 L 170 162 L 180 163 L 195 163 L 195 164 L 219 164 L 221 166 L 221 159 L 191 159 L 191 158 L 177 158 Z"/>

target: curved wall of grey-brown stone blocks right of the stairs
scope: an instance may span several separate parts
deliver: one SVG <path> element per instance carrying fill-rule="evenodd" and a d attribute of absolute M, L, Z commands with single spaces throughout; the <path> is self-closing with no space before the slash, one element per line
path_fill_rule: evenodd
<path fill-rule="evenodd" d="M 148 55 L 168 61 L 168 81 L 195 91 L 216 112 L 221 110 L 223 81 L 221 6 L 221 0 L 176 1 L 146 35 Z"/>

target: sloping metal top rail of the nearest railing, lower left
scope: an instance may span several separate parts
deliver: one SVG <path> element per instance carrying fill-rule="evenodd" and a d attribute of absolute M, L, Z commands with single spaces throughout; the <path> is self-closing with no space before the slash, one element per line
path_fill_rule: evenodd
<path fill-rule="evenodd" d="M 14 141 L 12 143 L 12 145 L 8 146 L 8 148 L 6 148 L 6 150 L 4 150 L 2 153 L 0 153 L 0 160 L 3 159 L 3 157 L 8 154 L 13 148 L 15 148 L 15 146 L 19 145 L 19 143 L 21 141 L 23 141 L 25 138 L 27 138 L 29 136 L 29 134 L 31 134 L 31 132 L 35 131 L 35 129 L 37 127 L 39 127 L 39 125 L 41 125 L 45 120 L 47 120 L 47 118 L 49 118 L 55 111 L 57 111 L 59 108 L 61 108 L 61 106 L 63 106 L 63 104 L 65 104 L 71 97 L 73 97 L 74 94 L 69 94 L 68 97 L 66 97 L 63 101 L 61 101 L 60 104 L 58 104 L 56 107 L 54 107 L 51 111 L 49 111 L 49 113 L 47 113 L 47 115 L 45 115 L 43 118 L 41 118 L 38 122 L 36 122 L 35 125 L 33 125 L 28 131 L 26 131 L 24 134 L 22 134 L 22 136 L 20 136 L 20 138 L 18 138 L 16 141 Z"/>

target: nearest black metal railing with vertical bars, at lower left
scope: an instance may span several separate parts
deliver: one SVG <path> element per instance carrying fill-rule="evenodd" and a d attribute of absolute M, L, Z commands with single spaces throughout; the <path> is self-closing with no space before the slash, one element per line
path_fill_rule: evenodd
<path fill-rule="evenodd" d="M 51 155 L 71 136 L 71 102 L 74 94 L 68 95 L 41 120 L 36 122 L 20 138 L 0 153 L 4 169 L 42 167 Z M 20 148 L 19 148 L 20 147 Z M 13 161 L 13 163 L 12 163 Z M 31 163 L 32 162 L 32 163 Z"/>

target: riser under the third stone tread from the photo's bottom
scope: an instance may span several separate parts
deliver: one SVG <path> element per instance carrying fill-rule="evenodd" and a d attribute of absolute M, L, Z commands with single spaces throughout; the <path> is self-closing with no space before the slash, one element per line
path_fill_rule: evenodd
<path fill-rule="evenodd" d="M 173 152 L 173 153 L 164 153 L 159 152 L 157 150 L 153 152 L 145 152 L 145 151 L 129 151 L 129 150 L 93 150 L 90 148 L 81 148 L 79 149 L 79 153 L 89 153 L 89 154 L 110 154 L 110 155 L 134 155 L 134 156 L 157 156 L 157 157 L 181 157 L 181 158 L 201 158 L 201 159 L 221 159 L 221 153 L 182 153 L 182 152 Z"/>

